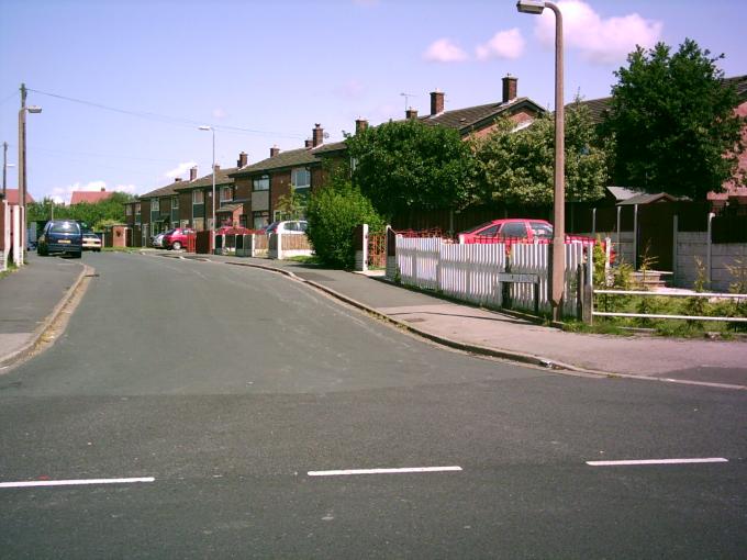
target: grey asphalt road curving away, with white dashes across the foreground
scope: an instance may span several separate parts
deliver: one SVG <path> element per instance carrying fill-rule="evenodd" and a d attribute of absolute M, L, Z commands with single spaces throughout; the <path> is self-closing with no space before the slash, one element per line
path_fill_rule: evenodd
<path fill-rule="evenodd" d="M 2 558 L 744 558 L 744 391 L 476 358 L 261 270 L 83 260 L 65 334 L 0 377 Z M 723 460 L 588 464 L 685 458 Z"/>

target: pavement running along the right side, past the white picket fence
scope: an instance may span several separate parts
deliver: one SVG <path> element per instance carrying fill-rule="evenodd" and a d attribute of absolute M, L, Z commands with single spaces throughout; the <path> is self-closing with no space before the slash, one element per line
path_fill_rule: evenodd
<path fill-rule="evenodd" d="M 169 256 L 174 256 L 172 254 Z M 581 372 L 747 389 L 747 341 L 567 333 L 383 279 L 293 261 L 198 256 L 292 273 L 409 331 L 467 351 Z"/>

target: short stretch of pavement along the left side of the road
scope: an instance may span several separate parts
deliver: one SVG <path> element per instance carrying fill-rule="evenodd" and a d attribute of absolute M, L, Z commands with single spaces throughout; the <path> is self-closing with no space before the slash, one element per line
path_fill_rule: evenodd
<path fill-rule="evenodd" d="M 38 257 L 0 279 L 0 373 L 36 345 L 82 281 L 80 260 Z"/>

